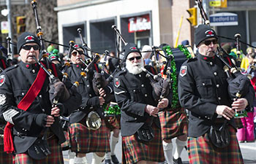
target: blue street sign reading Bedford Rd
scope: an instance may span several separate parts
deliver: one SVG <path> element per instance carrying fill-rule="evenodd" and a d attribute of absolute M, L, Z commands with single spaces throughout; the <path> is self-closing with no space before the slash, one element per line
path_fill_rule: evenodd
<path fill-rule="evenodd" d="M 210 15 L 211 26 L 238 26 L 238 15 L 231 12 L 219 12 Z"/>

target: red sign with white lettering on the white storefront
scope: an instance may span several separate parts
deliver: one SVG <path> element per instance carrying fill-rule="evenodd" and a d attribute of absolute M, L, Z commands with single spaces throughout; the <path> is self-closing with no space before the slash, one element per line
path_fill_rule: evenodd
<path fill-rule="evenodd" d="M 128 30 L 129 33 L 137 31 L 146 31 L 151 29 L 151 21 L 149 15 L 141 15 L 138 17 L 130 17 Z"/>

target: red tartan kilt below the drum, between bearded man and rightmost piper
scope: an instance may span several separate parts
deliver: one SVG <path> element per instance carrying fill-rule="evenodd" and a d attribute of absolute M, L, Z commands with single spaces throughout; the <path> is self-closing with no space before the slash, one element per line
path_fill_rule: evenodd
<path fill-rule="evenodd" d="M 162 139 L 172 139 L 187 134 L 188 120 L 184 108 L 170 109 L 158 115 Z"/>

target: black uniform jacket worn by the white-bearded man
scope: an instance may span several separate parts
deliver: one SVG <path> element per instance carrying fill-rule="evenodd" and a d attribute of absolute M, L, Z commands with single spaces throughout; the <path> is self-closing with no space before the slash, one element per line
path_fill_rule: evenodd
<path fill-rule="evenodd" d="M 153 90 L 146 73 L 131 74 L 127 69 L 114 77 L 116 102 L 121 108 L 121 136 L 131 136 L 150 118 L 145 112 L 146 105 L 157 106 Z M 170 102 L 170 101 L 169 101 Z M 154 123 L 160 128 L 159 117 Z"/>

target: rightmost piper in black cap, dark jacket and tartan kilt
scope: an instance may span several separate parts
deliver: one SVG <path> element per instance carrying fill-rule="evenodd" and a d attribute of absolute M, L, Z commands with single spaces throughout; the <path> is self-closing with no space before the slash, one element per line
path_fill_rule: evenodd
<path fill-rule="evenodd" d="M 236 138 L 235 109 L 241 111 L 253 106 L 254 93 L 232 100 L 227 90 L 225 64 L 215 55 L 217 34 L 206 25 L 195 30 L 197 54 L 183 63 L 178 77 L 178 96 L 181 106 L 189 110 L 189 163 L 244 163 Z M 229 56 L 222 58 L 230 63 Z M 230 143 L 219 148 L 209 140 L 211 126 L 228 121 Z M 220 138 L 222 139 L 222 138 Z M 225 140 L 226 141 L 226 140 Z"/>

